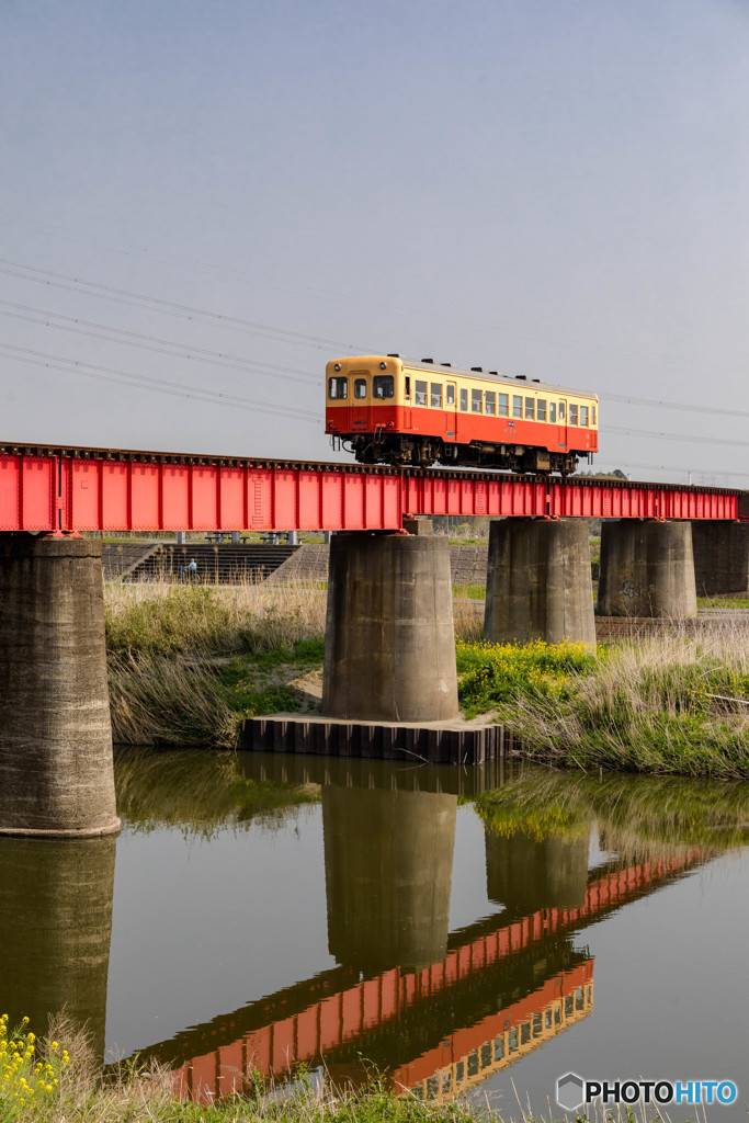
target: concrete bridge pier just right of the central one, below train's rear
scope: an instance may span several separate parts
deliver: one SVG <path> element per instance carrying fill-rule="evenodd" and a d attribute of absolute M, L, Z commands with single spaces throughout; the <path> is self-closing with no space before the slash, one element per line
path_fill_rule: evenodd
<path fill-rule="evenodd" d="M 493 643 L 566 639 L 595 647 L 587 522 L 492 522 L 484 637 Z"/>

